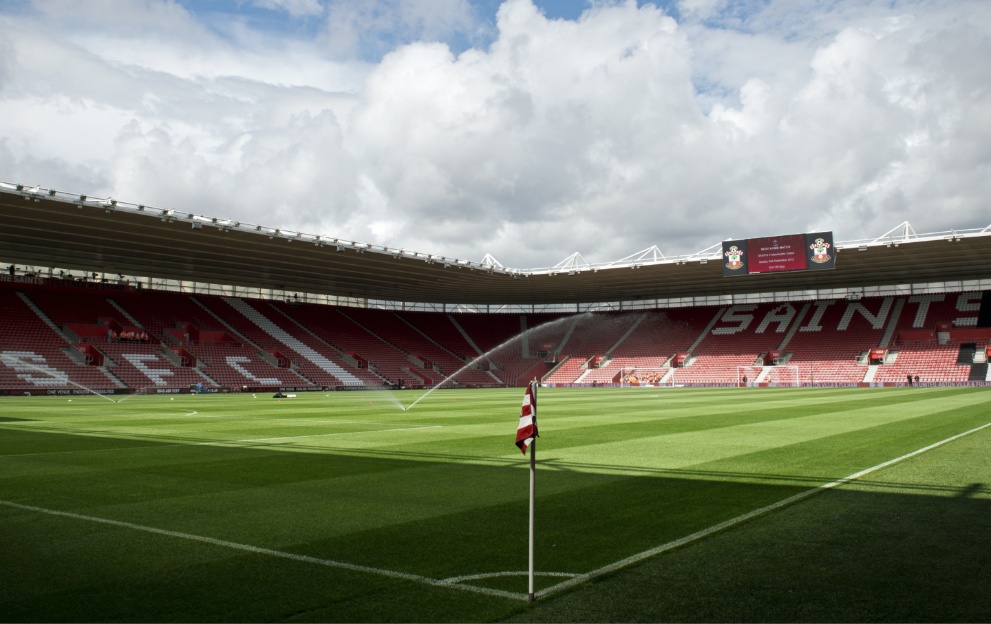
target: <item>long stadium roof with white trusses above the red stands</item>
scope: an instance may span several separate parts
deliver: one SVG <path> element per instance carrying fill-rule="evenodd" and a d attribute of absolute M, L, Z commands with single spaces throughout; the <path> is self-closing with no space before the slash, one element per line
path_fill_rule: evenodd
<path fill-rule="evenodd" d="M 721 247 L 607 264 L 575 254 L 511 269 L 194 213 L 0 183 L 0 261 L 360 299 L 545 305 L 991 279 L 991 226 L 916 235 L 908 223 L 836 245 L 836 269 L 724 278 Z"/>

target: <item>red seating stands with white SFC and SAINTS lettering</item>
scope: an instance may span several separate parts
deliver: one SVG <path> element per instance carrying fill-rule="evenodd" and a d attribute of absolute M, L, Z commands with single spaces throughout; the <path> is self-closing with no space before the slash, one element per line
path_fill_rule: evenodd
<path fill-rule="evenodd" d="M 805 385 L 987 380 L 987 293 L 594 314 L 443 313 L 0 284 L 0 389 L 735 385 L 789 365 Z M 135 330 L 139 339 L 123 340 Z M 144 338 L 147 336 L 147 338 Z M 475 362 L 477 360 L 477 362 Z"/>

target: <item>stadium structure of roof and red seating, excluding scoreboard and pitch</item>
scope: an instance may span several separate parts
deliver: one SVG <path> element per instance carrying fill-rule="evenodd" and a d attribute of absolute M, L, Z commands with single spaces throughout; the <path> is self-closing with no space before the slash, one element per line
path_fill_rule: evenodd
<path fill-rule="evenodd" d="M 0 388 L 988 383 L 991 226 L 832 249 L 514 269 L 0 183 Z"/>

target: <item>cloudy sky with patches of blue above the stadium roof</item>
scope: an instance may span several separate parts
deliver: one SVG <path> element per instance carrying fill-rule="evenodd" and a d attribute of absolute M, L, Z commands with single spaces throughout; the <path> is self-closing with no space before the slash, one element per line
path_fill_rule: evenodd
<path fill-rule="evenodd" d="M 991 225 L 988 0 L 3 0 L 0 181 L 516 268 Z"/>

